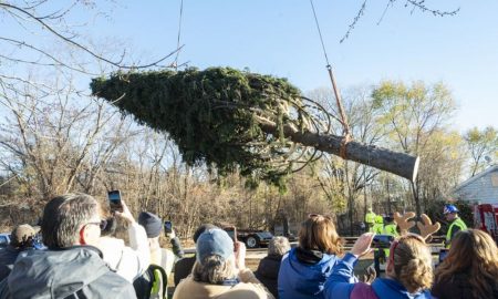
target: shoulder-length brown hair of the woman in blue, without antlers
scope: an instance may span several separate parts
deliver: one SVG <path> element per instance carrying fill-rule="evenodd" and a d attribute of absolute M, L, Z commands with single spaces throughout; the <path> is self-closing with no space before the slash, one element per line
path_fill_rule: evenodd
<path fill-rule="evenodd" d="M 307 250 L 319 250 L 329 255 L 342 254 L 342 239 L 339 237 L 332 218 L 322 215 L 310 215 L 301 224 L 299 246 Z"/>

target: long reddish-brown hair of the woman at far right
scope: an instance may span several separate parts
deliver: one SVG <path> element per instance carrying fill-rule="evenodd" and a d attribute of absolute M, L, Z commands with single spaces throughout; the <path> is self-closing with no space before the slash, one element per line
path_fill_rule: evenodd
<path fill-rule="evenodd" d="M 448 256 L 436 269 L 436 282 L 458 272 L 468 274 L 475 298 L 492 298 L 498 291 L 498 248 L 491 236 L 478 229 L 458 231 Z"/>

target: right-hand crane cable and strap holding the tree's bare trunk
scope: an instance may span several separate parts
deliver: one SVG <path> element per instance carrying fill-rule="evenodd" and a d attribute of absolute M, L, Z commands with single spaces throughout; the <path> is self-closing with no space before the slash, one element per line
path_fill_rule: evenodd
<path fill-rule="evenodd" d="M 317 11 L 314 10 L 314 4 L 313 4 L 313 0 L 310 0 L 311 3 L 311 9 L 313 11 L 313 17 L 314 17 L 314 22 L 317 23 L 317 29 L 320 35 L 320 42 L 322 43 L 322 50 L 323 50 L 323 54 L 325 56 L 325 62 L 326 62 L 326 71 L 329 72 L 329 76 L 330 80 L 332 82 L 332 87 L 334 91 L 334 95 L 335 95 L 335 102 L 339 109 L 339 114 L 340 114 L 340 122 L 342 124 L 343 127 L 343 138 L 341 141 L 341 147 L 339 150 L 339 155 L 346 159 L 346 145 L 347 143 L 352 140 L 351 136 L 351 130 L 350 130 L 350 125 L 347 123 L 347 116 L 344 113 L 344 109 L 342 106 L 342 100 L 341 100 L 341 93 L 339 92 L 338 85 L 335 84 L 335 78 L 334 74 L 332 72 L 332 66 L 330 65 L 329 62 L 329 56 L 326 55 L 326 50 L 325 50 L 325 44 L 323 42 L 323 37 L 322 37 L 322 31 L 320 30 L 320 23 L 318 21 L 318 17 L 317 17 Z"/>

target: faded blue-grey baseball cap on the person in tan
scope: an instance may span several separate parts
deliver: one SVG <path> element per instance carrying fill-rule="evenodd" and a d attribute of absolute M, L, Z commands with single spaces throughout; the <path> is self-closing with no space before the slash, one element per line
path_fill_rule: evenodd
<path fill-rule="evenodd" d="M 196 243 L 197 261 L 203 264 L 203 260 L 209 256 L 220 256 L 226 260 L 234 255 L 234 241 L 228 236 L 227 231 L 212 228 L 200 234 Z"/>

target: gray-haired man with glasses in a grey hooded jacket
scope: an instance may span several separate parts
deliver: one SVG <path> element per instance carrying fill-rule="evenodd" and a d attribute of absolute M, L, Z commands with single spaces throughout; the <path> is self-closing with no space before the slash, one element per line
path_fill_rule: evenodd
<path fill-rule="evenodd" d="M 132 283 L 111 271 L 94 247 L 101 237 L 98 210 L 85 194 L 50 200 L 41 225 L 49 249 L 18 258 L 8 277 L 11 298 L 136 298 Z"/>

